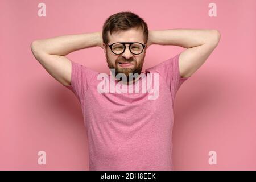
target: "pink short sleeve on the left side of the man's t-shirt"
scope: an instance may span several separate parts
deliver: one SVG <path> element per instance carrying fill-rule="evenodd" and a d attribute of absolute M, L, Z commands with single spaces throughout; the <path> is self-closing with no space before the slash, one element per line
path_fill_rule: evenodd
<path fill-rule="evenodd" d="M 82 105 L 85 99 L 85 93 L 88 90 L 90 83 L 93 81 L 93 78 L 96 77 L 97 72 L 85 67 L 82 64 L 75 63 L 72 60 L 71 67 L 71 85 L 63 86 L 71 90 L 79 99 L 79 102 Z"/>

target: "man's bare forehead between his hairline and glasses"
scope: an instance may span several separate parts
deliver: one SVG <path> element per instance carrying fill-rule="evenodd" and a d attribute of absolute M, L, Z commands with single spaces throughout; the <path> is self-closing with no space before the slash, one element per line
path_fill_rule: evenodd
<path fill-rule="evenodd" d="M 120 30 L 113 32 L 112 35 L 108 32 L 109 44 L 114 42 L 141 42 L 144 43 L 144 35 L 141 28 L 130 28 L 129 30 Z"/>

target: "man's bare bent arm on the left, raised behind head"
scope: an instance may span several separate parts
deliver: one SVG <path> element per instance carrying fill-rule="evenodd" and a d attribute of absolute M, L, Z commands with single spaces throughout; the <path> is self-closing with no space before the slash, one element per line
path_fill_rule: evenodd
<path fill-rule="evenodd" d="M 46 71 L 63 85 L 71 84 L 69 53 L 93 46 L 102 47 L 102 31 L 34 40 L 31 51 Z"/>

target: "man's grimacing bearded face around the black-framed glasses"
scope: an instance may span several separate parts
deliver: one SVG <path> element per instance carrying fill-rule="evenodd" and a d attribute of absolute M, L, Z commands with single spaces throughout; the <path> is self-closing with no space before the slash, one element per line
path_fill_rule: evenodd
<path fill-rule="evenodd" d="M 115 42 L 139 42 L 144 44 L 144 35 L 141 29 L 130 28 L 126 31 L 114 32 L 112 35 L 109 34 L 109 45 Z M 106 55 L 106 60 L 108 63 L 109 69 L 115 69 L 115 76 L 118 73 L 125 73 L 126 77 L 128 77 L 129 73 L 138 73 L 140 74 L 142 71 L 142 66 L 144 63 L 144 57 L 146 56 L 146 49 L 143 49 L 143 52 L 139 55 L 133 55 L 133 53 L 129 50 L 129 44 L 126 44 L 125 52 L 121 55 L 115 55 L 109 46 L 103 43 L 104 51 Z M 129 64 L 120 64 L 118 62 L 126 62 Z"/>

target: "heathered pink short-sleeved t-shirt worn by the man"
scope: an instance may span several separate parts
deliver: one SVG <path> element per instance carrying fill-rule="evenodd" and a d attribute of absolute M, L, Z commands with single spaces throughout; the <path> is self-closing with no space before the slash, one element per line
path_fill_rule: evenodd
<path fill-rule="evenodd" d="M 189 78 L 180 76 L 179 55 L 145 70 L 146 75 L 159 74 L 156 99 L 148 99 L 149 92 L 99 93 L 99 73 L 72 61 L 71 85 L 64 86 L 75 93 L 82 107 L 89 170 L 173 169 L 174 98 Z M 139 90 L 142 79 L 137 82 Z"/>

